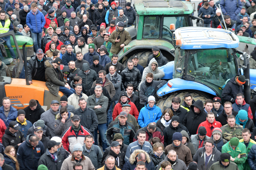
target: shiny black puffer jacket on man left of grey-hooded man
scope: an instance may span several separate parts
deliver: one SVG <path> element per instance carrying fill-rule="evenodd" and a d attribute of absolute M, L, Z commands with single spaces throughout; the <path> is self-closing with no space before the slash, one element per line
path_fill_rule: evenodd
<path fill-rule="evenodd" d="M 136 67 L 133 67 L 131 70 L 126 67 L 121 72 L 121 77 L 121 91 L 126 90 L 127 84 L 132 84 L 134 91 L 139 90 L 139 83 L 141 82 L 142 76 L 140 71 Z"/>

